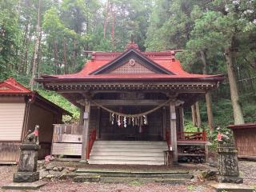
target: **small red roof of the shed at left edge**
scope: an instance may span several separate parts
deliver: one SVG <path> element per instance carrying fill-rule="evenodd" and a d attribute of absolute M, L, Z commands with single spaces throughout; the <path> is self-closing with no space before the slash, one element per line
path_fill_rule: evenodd
<path fill-rule="evenodd" d="M 31 90 L 15 81 L 14 78 L 8 78 L 0 82 L 0 94 L 30 94 Z"/>

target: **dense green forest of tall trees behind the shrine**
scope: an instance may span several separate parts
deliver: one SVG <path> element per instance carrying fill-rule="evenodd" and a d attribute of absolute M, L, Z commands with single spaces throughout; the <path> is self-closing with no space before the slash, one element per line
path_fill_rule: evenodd
<path fill-rule="evenodd" d="M 256 122 L 255 7 L 256 0 L 0 0 L 0 81 L 17 78 L 78 117 L 33 79 L 77 72 L 86 51 L 122 51 L 133 34 L 140 50 L 182 50 L 187 71 L 226 75 L 193 107 L 202 126 Z"/>

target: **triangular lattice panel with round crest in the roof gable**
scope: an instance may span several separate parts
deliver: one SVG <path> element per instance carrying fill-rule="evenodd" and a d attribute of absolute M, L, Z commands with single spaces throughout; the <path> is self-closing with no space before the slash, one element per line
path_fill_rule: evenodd
<path fill-rule="evenodd" d="M 112 70 L 110 74 L 155 74 L 154 71 L 149 70 L 146 66 L 142 66 L 134 59 L 130 59 L 126 64 L 119 66 L 117 69 Z"/>

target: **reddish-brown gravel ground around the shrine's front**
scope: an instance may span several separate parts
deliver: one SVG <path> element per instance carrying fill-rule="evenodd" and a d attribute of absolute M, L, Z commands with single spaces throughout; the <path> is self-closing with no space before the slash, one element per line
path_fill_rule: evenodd
<path fill-rule="evenodd" d="M 244 183 L 250 184 L 252 186 L 256 186 L 256 162 L 239 162 L 240 170 L 242 171 L 244 177 Z M 125 166 L 117 166 L 115 168 L 124 169 Z M 206 166 L 203 165 L 186 165 L 186 168 L 191 169 L 204 169 Z M 88 166 L 86 167 L 88 168 Z M 98 166 L 90 166 L 90 168 L 99 168 Z M 101 166 L 101 168 L 110 168 Z M 111 166 L 113 169 L 113 167 Z M 126 166 L 126 169 L 128 167 Z M 150 170 L 157 170 L 157 166 L 151 167 Z M 180 168 L 180 167 L 179 167 Z M 129 169 L 138 169 L 136 166 L 129 166 Z M 142 166 L 142 170 L 146 169 L 146 166 Z M 164 169 L 164 167 L 160 167 L 160 170 Z M 16 170 L 16 166 L 0 166 L 0 186 L 8 184 L 12 181 L 13 173 Z M 71 180 L 46 180 L 46 186 L 43 186 L 41 189 L 37 191 L 42 192 L 160 192 L 160 191 L 172 191 L 172 192 L 214 192 L 209 186 L 206 184 L 194 183 L 187 185 L 167 185 L 167 184 L 157 184 L 157 183 L 147 183 L 147 184 L 139 184 L 139 183 L 130 183 L 130 184 L 103 184 L 103 183 L 74 183 Z M 0 192 L 11 192 L 18 190 L 1 190 Z M 22 190 L 29 191 L 29 190 Z"/>

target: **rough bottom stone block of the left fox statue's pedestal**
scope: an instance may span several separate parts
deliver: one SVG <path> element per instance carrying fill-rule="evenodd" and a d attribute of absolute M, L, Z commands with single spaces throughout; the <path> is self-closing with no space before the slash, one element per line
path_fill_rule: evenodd
<path fill-rule="evenodd" d="M 14 182 L 36 182 L 39 180 L 39 172 L 17 172 L 14 174 Z"/>

